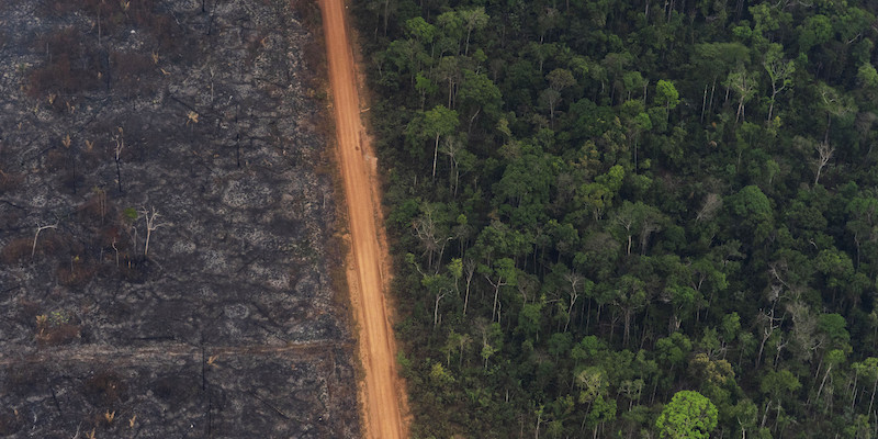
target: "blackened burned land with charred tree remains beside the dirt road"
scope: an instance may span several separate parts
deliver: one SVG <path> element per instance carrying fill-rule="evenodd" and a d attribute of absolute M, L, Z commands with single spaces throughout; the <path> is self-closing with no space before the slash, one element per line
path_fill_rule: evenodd
<path fill-rule="evenodd" d="M 316 5 L 0 2 L 0 437 L 356 437 Z"/>

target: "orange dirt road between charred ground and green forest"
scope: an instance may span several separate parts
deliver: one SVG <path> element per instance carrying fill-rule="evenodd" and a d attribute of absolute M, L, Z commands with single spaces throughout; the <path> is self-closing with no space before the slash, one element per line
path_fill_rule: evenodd
<path fill-rule="evenodd" d="M 367 438 L 405 438 L 405 398 L 396 372 L 395 344 L 384 293 L 387 290 L 386 244 L 379 229 L 380 188 L 371 150 L 360 120 L 357 74 L 342 0 L 320 0 L 329 60 L 329 83 L 338 143 L 338 158 L 350 222 L 351 302 L 359 326 L 364 389 L 360 389 Z"/>

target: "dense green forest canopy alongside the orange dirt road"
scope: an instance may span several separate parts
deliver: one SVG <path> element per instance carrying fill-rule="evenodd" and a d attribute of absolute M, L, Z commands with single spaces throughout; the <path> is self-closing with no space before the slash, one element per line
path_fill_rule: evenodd
<path fill-rule="evenodd" d="M 352 7 L 413 437 L 878 437 L 878 2 Z"/>

